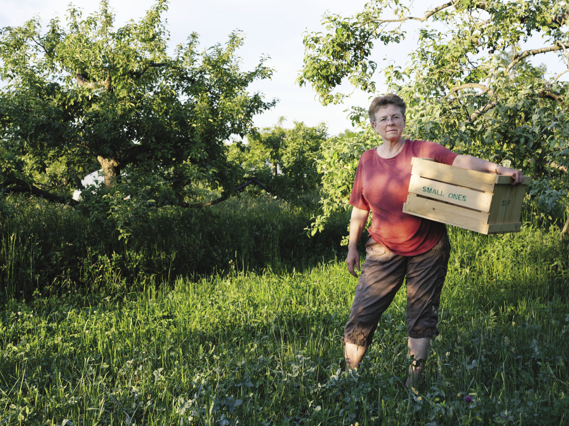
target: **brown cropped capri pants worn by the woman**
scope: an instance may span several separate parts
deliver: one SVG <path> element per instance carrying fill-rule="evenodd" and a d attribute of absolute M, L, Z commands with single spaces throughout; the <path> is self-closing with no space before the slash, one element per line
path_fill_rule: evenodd
<path fill-rule="evenodd" d="M 372 343 L 381 314 L 393 301 L 405 277 L 409 337 L 419 339 L 438 335 L 440 291 L 451 252 L 446 230 L 435 247 L 417 256 L 395 254 L 371 238 L 365 245 L 365 252 L 366 260 L 342 344 L 368 346 Z"/>

